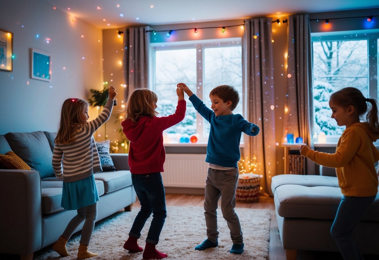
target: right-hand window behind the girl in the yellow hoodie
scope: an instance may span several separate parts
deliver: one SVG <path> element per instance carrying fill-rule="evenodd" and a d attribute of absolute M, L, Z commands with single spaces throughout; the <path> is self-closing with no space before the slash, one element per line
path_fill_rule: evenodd
<path fill-rule="evenodd" d="M 333 92 L 352 86 L 365 97 L 378 98 L 378 38 L 379 31 L 312 34 L 314 137 L 324 132 L 334 143 L 345 129 L 330 117 Z"/>

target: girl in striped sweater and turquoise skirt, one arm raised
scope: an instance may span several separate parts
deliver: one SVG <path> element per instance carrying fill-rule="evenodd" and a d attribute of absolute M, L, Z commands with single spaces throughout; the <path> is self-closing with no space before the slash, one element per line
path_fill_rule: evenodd
<path fill-rule="evenodd" d="M 67 240 L 84 221 L 78 249 L 78 259 L 97 256 L 88 251 L 89 240 L 97 218 L 97 193 L 94 172 L 102 171 L 93 133 L 111 116 L 114 97 L 113 86 L 109 98 L 99 116 L 88 122 L 89 104 L 83 99 L 66 99 L 62 105 L 60 127 L 55 138 L 53 169 L 55 176 L 63 179 L 61 206 L 77 210 L 61 237 L 53 244 L 53 250 L 61 256 L 69 256 Z"/>

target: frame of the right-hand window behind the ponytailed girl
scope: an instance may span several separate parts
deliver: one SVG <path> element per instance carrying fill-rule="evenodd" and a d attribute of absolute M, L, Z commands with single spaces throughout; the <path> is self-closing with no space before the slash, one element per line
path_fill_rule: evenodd
<path fill-rule="evenodd" d="M 354 35 L 354 38 L 347 38 L 346 36 Z M 331 32 L 317 32 L 311 33 L 311 46 L 312 46 L 312 57 L 313 57 L 313 42 L 324 42 L 324 41 L 358 41 L 358 40 L 367 40 L 367 82 L 368 82 L 368 95 L 371 99 L 378 100 L 379 98 L 379 85 L 378 85 L 378 69 L 379 66 L 379 57 L 378 57 L 378 45 L 379 45 L 379 29 L 375 30 L 355 30 L 355 31 L 331 31 Z M 370 46 L 372 46 L 370 48 Z M 376 59 L 370 58 L 375 57 Z M 313 59 L 313 58 L 312 58 Z M 312 62 L 312 92 L 313 92 L 313 62 Z M 312 107 L 314 111 L 314 107 Z M 315 120 L 313 116 L 312 120 Z M 315 122 L 312 124 L 316 124 Z M 313 133 L 314 130 L 311 129 Z M 326 144 L 337 144 L 340 136 L 338 135 L 327 135 Z M 315 138 L 314 144 L 319 145 L 318 140 Z"/>

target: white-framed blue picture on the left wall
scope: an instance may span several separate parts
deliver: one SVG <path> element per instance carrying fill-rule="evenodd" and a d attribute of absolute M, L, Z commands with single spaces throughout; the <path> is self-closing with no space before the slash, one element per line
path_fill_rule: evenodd
<path fill-rule="evenodd" d="M 30 49 L 30 77 L 36 80 L 51 80 L 50 54 L 37 49 Z"/>

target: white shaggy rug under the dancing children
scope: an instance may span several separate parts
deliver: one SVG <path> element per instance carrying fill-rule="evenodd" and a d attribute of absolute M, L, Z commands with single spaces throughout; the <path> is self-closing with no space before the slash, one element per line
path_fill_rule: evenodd
<path fill-rule="evenodd" d="M 89 251 L 99 255 L 92 260 L 130 260 L 142 259 L 143 252 L 130 253 L 123 248 L 128 233 L 137 215 L 139 208 L 133 207 L 131 212 L 119 212 L 95 225 Z M 241 255 L 230 254 L 232 240 L 229 228 L 218 209 L 218 247 L 205 251 L 194 250 L 197 244 L 207 238 L 204 209 L 202 207 L 167 207 L 167 218 L 160 235 L 157 249 L 168 255 L 164 259 L 185 260 L 266 260 L 268 259 L 268 245 L 270 238 L 270 213 L 265 209 L 235 208 L 240 218 L 244 252 Z M 138 240 L 139 246 L 145 246 L 147 232 L 152 216 L 147 220 Z M 51 249 L 51 246 L 34 254 L 34 260 L 74 260 L 77 259 L 80 232 L 74 234 L 67 243 L 69 257 L 60 257 Z"/>

